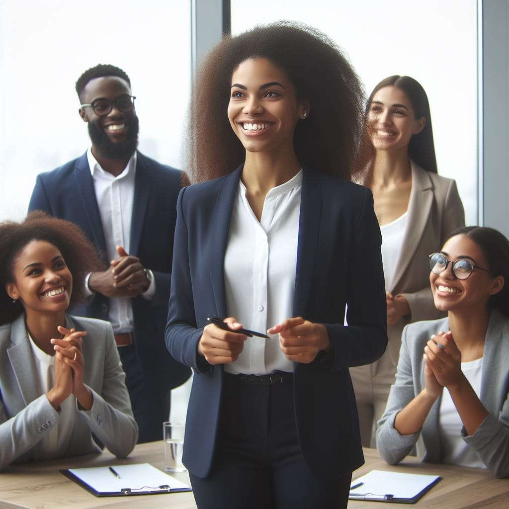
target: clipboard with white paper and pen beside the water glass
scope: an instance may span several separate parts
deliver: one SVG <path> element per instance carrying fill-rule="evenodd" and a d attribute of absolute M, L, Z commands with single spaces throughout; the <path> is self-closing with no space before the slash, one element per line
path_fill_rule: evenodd
<path fill-rule="evenodd" d="M 60 470 L 67 478 L 96 497 L 123 497 L 155 495 L 192 491 L 192 488 L 150 463 L 114 465 L 115 475 L 109 466 L 69 468 Z"/>

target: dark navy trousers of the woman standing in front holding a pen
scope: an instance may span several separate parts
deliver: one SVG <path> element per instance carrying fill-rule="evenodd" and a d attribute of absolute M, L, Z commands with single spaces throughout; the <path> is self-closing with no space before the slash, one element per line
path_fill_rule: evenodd
<path fill-rule="evenodd" d="M 206 478 L 190 473 L 198 508 L 346 508 L 352 474 L 325 482 L 302 458 L 293 383 L 245 385 L 229 374 L 224 379 L 212 470 Z"/>

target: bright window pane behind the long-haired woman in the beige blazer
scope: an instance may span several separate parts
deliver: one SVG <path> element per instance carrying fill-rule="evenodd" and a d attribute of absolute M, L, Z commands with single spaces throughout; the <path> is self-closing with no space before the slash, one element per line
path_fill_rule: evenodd
<path fill-rule="evenodd" d="M 477 224 L 476 0 L 232 0 L 232 33 L 294 19 L 336 41 L 369 94 L 382 78 L 406 74 L 425 88 L 438 173 L 456 179 L 467 224 Z"/>

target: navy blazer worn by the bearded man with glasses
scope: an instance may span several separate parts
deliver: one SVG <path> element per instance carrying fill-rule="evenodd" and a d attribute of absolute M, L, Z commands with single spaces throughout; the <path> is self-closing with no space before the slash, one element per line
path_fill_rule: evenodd
<path fill-rule="evenodd" d="M 190 376 L 164 347 L 181 173 L 137 153 L 129 254 L 152 270 L 156 283 L 153 300 L 132 299 L 136 355 L 148 383 L 177 387 Z M 106 242 L 87 153 L 37 177 L 29 210 L 43 210 L 77 224 L 96 246 L 107 266 Z M 86 309 L 73 315 L 108 320 L 109 298 L 96 294 Z"/>

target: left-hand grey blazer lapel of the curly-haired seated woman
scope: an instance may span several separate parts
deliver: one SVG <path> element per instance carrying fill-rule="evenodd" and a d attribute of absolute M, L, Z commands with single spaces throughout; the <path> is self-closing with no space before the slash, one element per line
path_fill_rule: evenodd
<path fill-rule="evenodd" d="M 7 355 L 26 406 L 37 399 L 40 394 L 34 376 L 35 366 L 33 365 L 32 349 L 24 319 L 24 314 L 21 314 L 12 322 L 11 343 L 13 346 L 7 350 Z M 30 363 L 30 366 L 27 366 L 27 363 Z"/>

